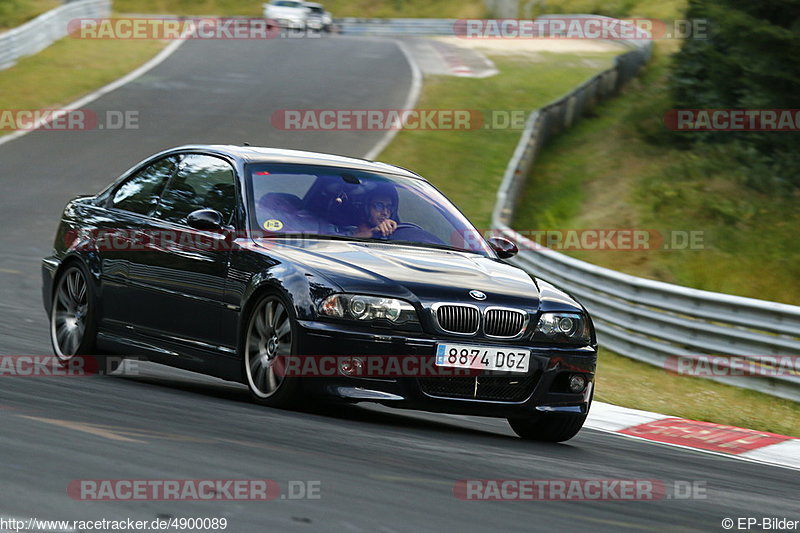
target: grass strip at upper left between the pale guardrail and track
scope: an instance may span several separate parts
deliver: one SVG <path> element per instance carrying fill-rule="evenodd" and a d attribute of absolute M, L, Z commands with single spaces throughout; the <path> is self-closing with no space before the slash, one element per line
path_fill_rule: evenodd
<path fill-rule="evenodd" d="M 66 37 L 0 71 L 0 110 L 58 108 L 136 69 L 166 42 Z M 0 129 L 0 135 L 13 130 Z"/>

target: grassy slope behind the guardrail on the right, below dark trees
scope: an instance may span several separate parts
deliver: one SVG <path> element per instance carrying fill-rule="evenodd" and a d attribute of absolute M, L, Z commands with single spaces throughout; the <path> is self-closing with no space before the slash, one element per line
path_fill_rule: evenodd
<path fill-rule="evenodd" d="M 518 229 L 700 232 L 693 249 L 564 250 L 593 264 L 698 289 L 800 304 L 800 190 L 760 191 L 735 146 L 675 147 L 667 43 L 621 96 L 545 147 L 523 191 Z M 680 134 L 688 135 L 688 134 Z"/>

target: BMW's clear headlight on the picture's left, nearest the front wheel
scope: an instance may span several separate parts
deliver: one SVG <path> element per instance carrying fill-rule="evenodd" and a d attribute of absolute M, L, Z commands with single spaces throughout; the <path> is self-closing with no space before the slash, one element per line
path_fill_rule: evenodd
<path fill-rule="evenodd" d="M 323 315 L 351 320 L 388 320 L 395 324 L 415 322 L 414 306 L 403 300 L 363 296 L 361 294 L 334 294 L 319 306 Z"/>

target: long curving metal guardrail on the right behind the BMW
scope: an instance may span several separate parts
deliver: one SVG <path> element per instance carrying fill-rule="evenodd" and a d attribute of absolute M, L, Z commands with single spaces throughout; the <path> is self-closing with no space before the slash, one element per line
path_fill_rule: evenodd
<path fill-rule="evenodd" d="M 601 346 L 673 371 L 678 358 L 741 356 L 760 365 L 765 375 L 736 376 L 741 368 L 723 358 L 715 360 L 716 371 L 728 375 L 705 377 L 800 401 L 800 376 L 791 368 L 770 372 L 769 357 L 800 356 L 800 307 L 622 274 L 544 248 L 510 227 L 515 202 L 541 146 L 597 101 L 615 94 L 649 59 L 649 42 L 629 44 L 635 49 L 619 56 L 614 67 L 530 114 L 497 191 L 492 227 L 519 246 L 512 262 L 586 306 Z"/>

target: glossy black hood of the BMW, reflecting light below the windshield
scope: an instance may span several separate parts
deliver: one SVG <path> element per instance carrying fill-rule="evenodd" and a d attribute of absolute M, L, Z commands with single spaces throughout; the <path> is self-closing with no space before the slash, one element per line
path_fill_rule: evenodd
<path fill-rule="evenodd" d="M 539 290 L 523 270 L 468 252 L 398 244 L 304 240 L 257 241 L 277 260 L 302 264 L 345 292 L 383 294 L 422 302 L 472 302 L 538 308 Z"/>

